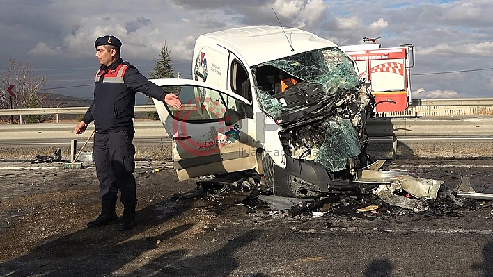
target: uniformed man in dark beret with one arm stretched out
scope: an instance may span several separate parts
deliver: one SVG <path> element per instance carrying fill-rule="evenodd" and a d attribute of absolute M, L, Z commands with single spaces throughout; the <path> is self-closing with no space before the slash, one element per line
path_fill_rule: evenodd
<path fill-rule="evenodd" d="M 101 67 L 95 76 L 94 99 L 74 130 L 77 134 L 84 133 L 88 124 L 94 121 L 93 160 L 100 181 L 102 211 L 94 221 L 88 222 L 88 228 L 118 222 L 115 212 L 118 189 L 124 207 L 118 230 L 130 230 L 136 224 L 137 198 L 133 174 L 135 92 L 143 92 L 177 109 L 182 105 L 178 96 L 165 92 L 140 74 L 136 67 L 123 62 L 121 45 L 120 40 L 112 35 L 98 37 L 95 41 L 96 57 Z"/>

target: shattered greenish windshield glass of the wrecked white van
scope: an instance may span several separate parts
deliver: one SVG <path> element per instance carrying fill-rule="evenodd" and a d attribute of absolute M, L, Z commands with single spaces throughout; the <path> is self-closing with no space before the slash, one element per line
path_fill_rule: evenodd
<path fill-rule="evenodd" d="M 352 60 L 337 47 L 316 49 L 288 56 L 278 60 L 264 62 L 253 68 L 256 76 L 256 92 L 260 105 L 272 117 L 282 112 L 299 108 L 306 103 L 288 103 L 288 99 L 279 97 L 290 85 L 320 84 L 320 98 L 335 99 L 359 85 L 357 72 Z M 289 82 L 283 83 L 288 80 Z M 305 101 L 306 102 L 306 101 Z"/>

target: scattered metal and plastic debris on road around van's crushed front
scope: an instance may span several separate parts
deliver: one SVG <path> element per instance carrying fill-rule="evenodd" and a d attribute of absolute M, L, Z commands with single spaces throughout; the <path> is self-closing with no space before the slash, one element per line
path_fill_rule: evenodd
<path fill-rule="evenodd" d="M 201 191 L 216 194 L 228 189 L 250 191 L 249 196 L 233 205 L 244 205 L 252 211 L 264 203 L 272 212 L 283 212 L 288 217 L 308 213 L 311 217 L 323 217 L 332 213 L 374 219 L 377 216 L 421 213 L 426 217 L 441 218 L 445 215 L 461 215 L 467 209 L 493 206 L 493 201 L 475 201 L 493 200 L 493 194 L 475 192 L 469 183 L 469 177 L 462 177 L 455 190 L 447 190 L 441 188 L 444 181 L 421 178 L 407 171 L 382 170 L 384 162 L 385 160 L 378 160 L 359 169 L 355 180 L 347 185 L 355 190 L 327 192 L 313 199 L 269 195 L 270 190 L 260 184 L 260 176 L 254 176 L 251 172 L 243 176 L 236 175 L 235 181 L 219 176 L 198 181 L 197 185 Z"/>

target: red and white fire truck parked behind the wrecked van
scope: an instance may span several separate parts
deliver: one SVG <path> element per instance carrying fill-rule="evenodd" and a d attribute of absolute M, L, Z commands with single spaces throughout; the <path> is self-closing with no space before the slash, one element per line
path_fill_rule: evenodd
<path fill-rule="evenodd" d="M 357 64 L 359 76 L 370 83 L 375 95 L 376 112 L 403 111 L 411 103 L 409 69 L 414 67 L 414 46 L 381 47 L 375 39 L 363 37 L 373 44 L 340 47 Z"/>

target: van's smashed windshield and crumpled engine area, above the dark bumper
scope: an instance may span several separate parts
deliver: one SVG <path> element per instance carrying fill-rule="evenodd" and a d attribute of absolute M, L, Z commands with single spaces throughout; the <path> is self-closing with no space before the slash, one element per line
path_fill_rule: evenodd
<path fill-rule="evenodd" d="M 364 125 L 375 99 L 343 51 L 327 47 L 298 53 L 264 62 L 252 72 L 260 106 L 283 128 L 285 153 L 332 172 L 349 169 L 354 175 L 354 161 L 357 168 L 366 166 Z M 276 90 L 286 76 L 295 85 Z"/>

